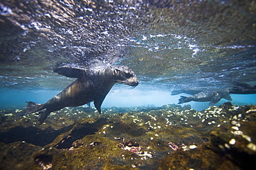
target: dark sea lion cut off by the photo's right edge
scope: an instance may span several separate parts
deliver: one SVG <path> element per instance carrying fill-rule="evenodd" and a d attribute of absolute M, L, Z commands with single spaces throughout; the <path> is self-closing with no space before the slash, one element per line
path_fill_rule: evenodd
<path fill-rule="evenodd" d="M 252 86 L 241 82 L 234 82 L 233 84 L 230 94 L 256 94 L 256 85 Z"/>

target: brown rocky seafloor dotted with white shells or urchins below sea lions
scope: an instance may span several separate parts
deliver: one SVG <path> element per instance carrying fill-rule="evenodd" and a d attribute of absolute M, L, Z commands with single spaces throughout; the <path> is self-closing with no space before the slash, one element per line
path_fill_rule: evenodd
<path fill-rule="evenodd" d="M 0 169 L 251 169 L 256 106 L 1 110 Z"/>

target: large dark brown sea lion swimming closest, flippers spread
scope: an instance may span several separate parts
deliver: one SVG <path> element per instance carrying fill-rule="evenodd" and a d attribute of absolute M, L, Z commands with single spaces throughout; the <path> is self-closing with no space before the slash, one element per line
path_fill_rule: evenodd
<path fill-rule="evenodd" d="M 77 78 L 77 80 L 44 104 L 26 102 L 28 105 L 26 105 L 24 115 L 39 111 L 40 125 L 53 111 L 64 107 L 81 106 L 91 101 L 94 101 L 100 114 L 102 102 L 115 83 L 138 85 L 134 71 L 125 65 L 107 65 L 89 69 L 64 65 L 53 71 L 64 76 Z"/>

